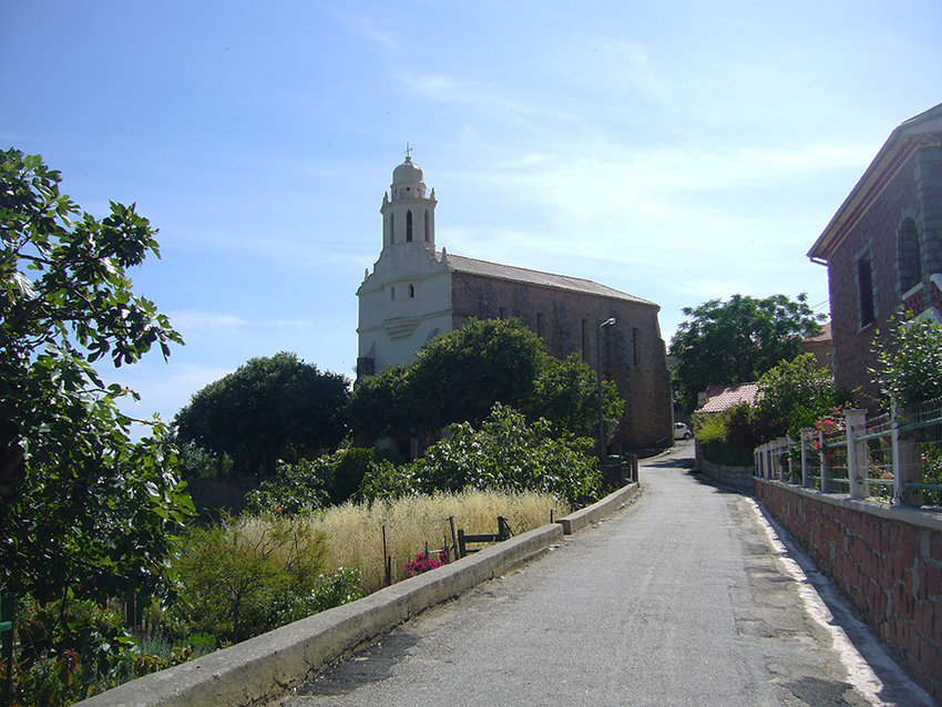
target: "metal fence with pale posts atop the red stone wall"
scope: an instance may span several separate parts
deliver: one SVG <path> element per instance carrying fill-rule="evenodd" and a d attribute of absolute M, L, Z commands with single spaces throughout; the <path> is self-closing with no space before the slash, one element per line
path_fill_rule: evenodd
<path fill-rule="evenodd" d="M 756 475 L 852 499 L 942 506 L 942 398 L 867 418 L 844 410 L 755 452 Z"/>

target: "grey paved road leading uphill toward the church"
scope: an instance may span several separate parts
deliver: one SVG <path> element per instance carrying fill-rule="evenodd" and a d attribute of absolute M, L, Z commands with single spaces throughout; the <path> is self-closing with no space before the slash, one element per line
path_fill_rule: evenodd
<path fill-rule="evenodd" d="M 281 704 L 934 705 L 822 602 L 835 593 L 751 499 L 690 473 L 689 451 L 643 465 L 632 505 Z"/>

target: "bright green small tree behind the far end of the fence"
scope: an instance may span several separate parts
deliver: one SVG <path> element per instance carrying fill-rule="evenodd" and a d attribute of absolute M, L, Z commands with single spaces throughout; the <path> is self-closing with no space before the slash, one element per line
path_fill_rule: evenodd
<path fill-rule="evenodd" d="M 813 427 L 842 402 L 831 371 L 819 368 L 812 354 L 782 361 L 759 379 L 756 416 L 764 440 L 790 434 L 799 439 L 801 428 Z"/>

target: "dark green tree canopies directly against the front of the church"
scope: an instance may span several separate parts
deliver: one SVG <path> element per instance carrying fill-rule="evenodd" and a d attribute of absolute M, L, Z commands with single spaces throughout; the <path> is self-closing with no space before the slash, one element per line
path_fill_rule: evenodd
<path fill-rule="evenodd" d="M 546 418 L 556 437 L 594 437 L 597 386 L 578 357 L 557 360 L 519 319 L 472 320 L 432 339 L 408 366 L 357 382 L 349 413 L 360 443 L 382 437 L 434 436 L 449 424 L 479 427 L 494 403 L 531 421 Z M 616 386 L 604 381 L 603 413 L 614 433 L 624 412 Z"/>

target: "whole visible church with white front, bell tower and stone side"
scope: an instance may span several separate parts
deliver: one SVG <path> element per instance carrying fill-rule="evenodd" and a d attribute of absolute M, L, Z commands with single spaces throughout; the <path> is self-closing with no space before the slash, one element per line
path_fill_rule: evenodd
<path fill-rule="evenodd" d="M 611 443 L 615 451 L 670 444 L 670 376 L 658 305 L 592 280 L 437 249 L 437 203 L 410 157 L 393 170 L 380 208 L 382 250 L 357 290 L 357 376 L 408 363 L 437 335 L 472 318 L 519 318 L 551 356 L 576 354 L 593 369 L 601 344 L 602 375 L 625 399 Z"/>

